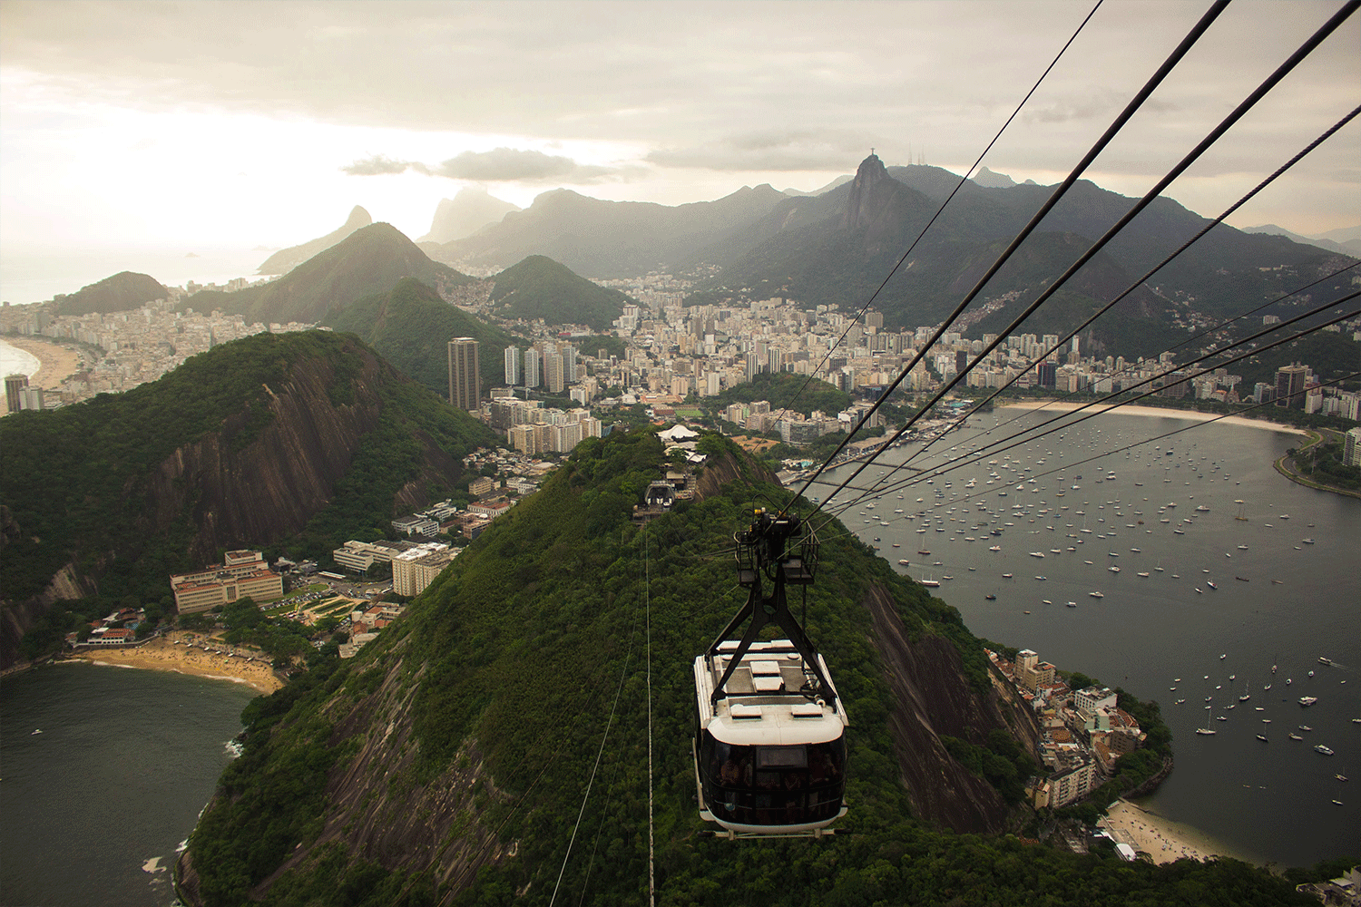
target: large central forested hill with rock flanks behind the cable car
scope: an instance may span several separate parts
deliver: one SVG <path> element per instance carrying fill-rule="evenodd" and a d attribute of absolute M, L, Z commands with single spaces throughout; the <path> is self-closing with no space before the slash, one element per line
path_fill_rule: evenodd
<path fill-rule="evenodd" d="M 734 567 L 712 552 L 787 492 L 717 435 L 700 445 L 694 498 L 644 529 L 629 514 L 664 469 L 655 431 L 583 443 L 355 658 L 248 706 L 177 865 L 185 903 L 634 903 L 649 866 L 659 903 L 704 907 L 1290 900 L 1232 859 L 1131 865 L 998 834 L 1011 813 L 984 775 L 1018 785 L 1036 718 L 955 609 L 836 521 L 806 623 L 851 721 L 851 812 L 821 840 L 706 836 L 693 661 L 739 605 L 715 594 Z"/>

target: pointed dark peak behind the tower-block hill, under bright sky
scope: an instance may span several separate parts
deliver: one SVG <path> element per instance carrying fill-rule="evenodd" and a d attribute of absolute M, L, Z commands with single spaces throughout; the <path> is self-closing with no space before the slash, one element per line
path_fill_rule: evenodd
<path fill-rule="evenodd" d="M 475 281 L 430 261 L 392 224 L 376 223 L 355 230 L 278 280 L 237 292 L 197 292 L 181 305 L 196 311 L 220 309 L 250 321 L 316 324 L 358 299 L 388 292 L 401 277 L 415 277 L 437 291 Z"/>

